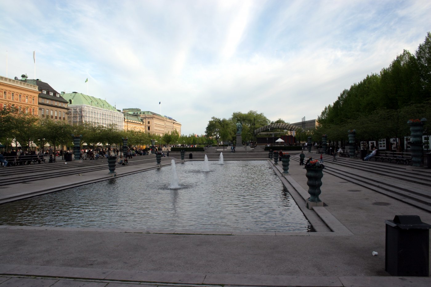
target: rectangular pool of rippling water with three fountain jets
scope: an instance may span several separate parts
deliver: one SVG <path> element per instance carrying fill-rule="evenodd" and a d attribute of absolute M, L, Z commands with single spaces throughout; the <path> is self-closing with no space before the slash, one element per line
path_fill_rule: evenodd
<path fill-rule="evenodd" d="M 194 161 L 0 205 L 0 225 L 310 231 L 266 161 Z"/>

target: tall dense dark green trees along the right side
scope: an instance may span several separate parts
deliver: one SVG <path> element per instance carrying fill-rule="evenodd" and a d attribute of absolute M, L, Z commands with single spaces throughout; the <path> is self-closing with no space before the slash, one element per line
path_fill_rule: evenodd
<path fill-rule="evenodd" d="M 406 122 L 422 118 L 431 119 L 430 32 L 415 54 L 404 50 L 388 68 L 343 90 L 319 116 L 315 137 L 346 140 L 349 129 L 363 140 L 408 136 Z"/>

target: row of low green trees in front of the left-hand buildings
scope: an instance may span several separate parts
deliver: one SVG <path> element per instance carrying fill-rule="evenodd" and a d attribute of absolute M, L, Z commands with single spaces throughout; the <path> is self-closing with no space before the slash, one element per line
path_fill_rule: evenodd
<path fill-rule="evenodd" d="M 22 147 L 43 147 L 46 143 L 53 147 L 73 147 L 72 134 L 82 135 L 81 144 L 88 147 L 97 145 L 119 146 L 122 138 L 128 138 L 129 146 L 149 146 L 151 140 L 157 145 L 198 145 L 208 144 L 205 137 L 181 135 L 177 131 L 162 136 L 144 131 L 118 130 L 116 125 L 102 126 L 84 123 L 69 125 L 67 122 L 54 122 L 51 119 L 38 119 L 28 113 L 17 112 L 16 109 L 0 110 L 0 142 L 7 147 L 18 142 Z"/>

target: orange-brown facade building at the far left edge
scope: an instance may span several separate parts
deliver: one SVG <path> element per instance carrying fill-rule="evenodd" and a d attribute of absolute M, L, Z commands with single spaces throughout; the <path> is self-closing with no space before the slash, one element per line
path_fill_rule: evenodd
<path fill-rule="evenodd" d="M 15 107 L 18 112 L 39 115 L 38 113 L 39 90 L 34 84 L 0 76 L 0 108 Z"/>

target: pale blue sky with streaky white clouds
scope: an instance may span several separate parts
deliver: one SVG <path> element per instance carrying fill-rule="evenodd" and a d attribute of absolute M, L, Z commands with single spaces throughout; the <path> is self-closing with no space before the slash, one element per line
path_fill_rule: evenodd
<path fill-rule="evenodd" d="M 233 112 L 317 119 L 431 31 L 429 0 L 1 0 L 0 11 L 0 75 L 166 115 L 185 135 Z"/>

